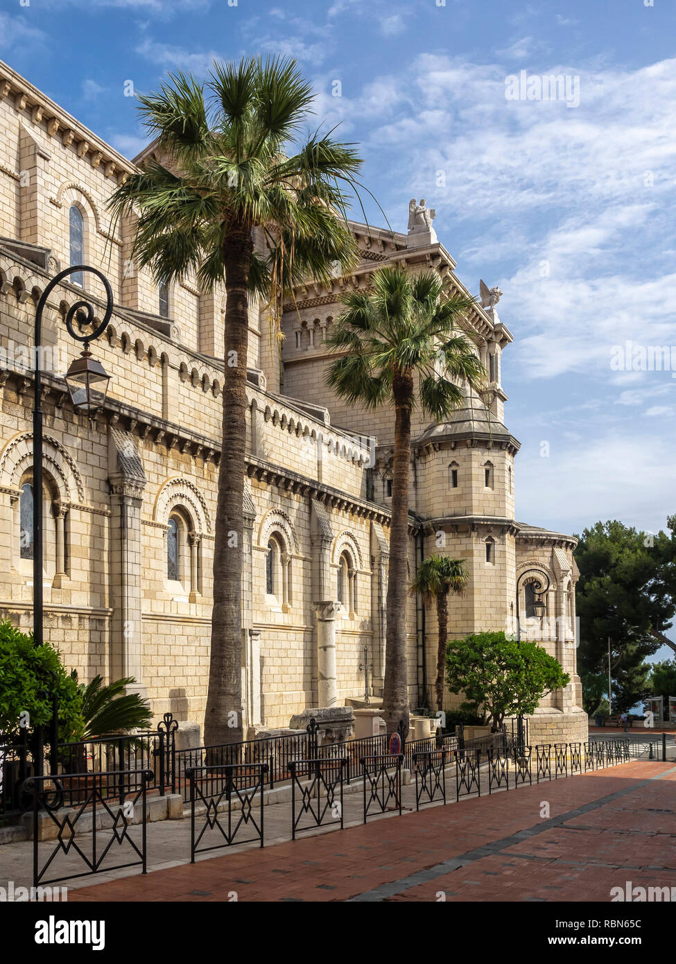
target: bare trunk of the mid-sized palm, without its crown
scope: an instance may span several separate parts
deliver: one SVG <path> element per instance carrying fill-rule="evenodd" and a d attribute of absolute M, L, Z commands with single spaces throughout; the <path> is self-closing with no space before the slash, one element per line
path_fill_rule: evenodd
<path fill-rule="evenodd" d="M 394 396 L 394 460 L 392 464 L 392 521 L 390 524 L 390 567 L 386 602 L 385 682 L 383 715 L 388 734 L 395 733 L 400 720 L 409 729 L 407 606 L 408 606 L 408 522 L 409 472 L 411 462 L 411 404 L 413 378 L 396 375 Z"/>

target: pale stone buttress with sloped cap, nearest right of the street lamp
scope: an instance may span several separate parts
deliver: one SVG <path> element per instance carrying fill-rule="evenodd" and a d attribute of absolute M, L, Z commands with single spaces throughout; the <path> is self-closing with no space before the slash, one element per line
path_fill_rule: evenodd
<path fill-rule="evenodd" d="M 143 546 L 141 505 L 146 475 L 128 432 L 111 428 L 110 485 L 111 676 L 133 676 L 128 692 L 146 695 L 143 683 Z"/>

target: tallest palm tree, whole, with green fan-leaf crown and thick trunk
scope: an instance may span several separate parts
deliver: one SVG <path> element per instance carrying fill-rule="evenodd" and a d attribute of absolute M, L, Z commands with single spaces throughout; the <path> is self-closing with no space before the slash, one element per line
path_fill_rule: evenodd
<path fill-rule="evenodd" d="M 205 99 L 205 89 L 207 97 Z M 279 321 L 284 291 L 347 270 L 356 246 L 346 224 L 361 166 L 352 146 L 330 136 L 294 139 L 312 92 L 289 59 L 214 64 L 205 85 L 170 75 L 141 96 L 164 166 L 149 160 L 115 192 L 116 216 L 138 216 L 134 256 L 157 281 L 195 272 L 203 291 L 227 293 L 223 447 L 213 563 L 206 745 L 242 734 L 242 534 L 247 407 L 248 299 L 270 298 Z M 170 170 L 171 168 L 171 170 Z M 265 239 L 255 247 L 254 231 Z"/>

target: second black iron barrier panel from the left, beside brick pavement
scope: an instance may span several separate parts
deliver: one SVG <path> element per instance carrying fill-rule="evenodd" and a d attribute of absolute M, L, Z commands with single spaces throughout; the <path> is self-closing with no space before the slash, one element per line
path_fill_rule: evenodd
<path fill-rule="evenodd" d="M 267 763 L 188 769 L 192 864 L 195 863 L 195 854 L 207 850 L 256 841 L 263 845 L 263 787 L 266 776 Z M 249 836 L 245 837 L 247 833 Z M 214 840 L 217 843 L 214 844 Z"/>

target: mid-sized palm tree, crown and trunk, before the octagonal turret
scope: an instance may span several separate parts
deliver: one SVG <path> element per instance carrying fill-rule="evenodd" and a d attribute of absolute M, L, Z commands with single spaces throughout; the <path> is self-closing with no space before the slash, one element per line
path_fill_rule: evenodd
<path fill-rule="evenodd" d="M 481 363 L 457 323 L 471 308 L 467 298 L 446 297 L 433 271 L 409 276 L 387 267 L 372 276 L 372 292 L 354 291 L 327 339 L 343 352 L 327 374 L 327 385 L 348 404 L 394 408 L 390 570 L 383 714 L 388 733 L 399 720 L 409 725 L 406 672 L 406 602 L 409 524 L 411 413 L 416 405 L 435 420 L 464 401 L 463 383 L 481 388 Z"/>

